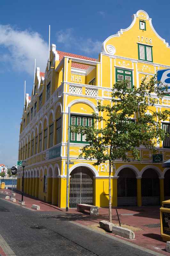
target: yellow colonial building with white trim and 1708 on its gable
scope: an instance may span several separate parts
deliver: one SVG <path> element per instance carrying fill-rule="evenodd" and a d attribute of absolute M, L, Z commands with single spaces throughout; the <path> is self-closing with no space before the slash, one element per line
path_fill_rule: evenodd
<path fill-rule="evenodd" d="M 26 94 L 19 135 L 19 160 L 25 159 L 24 192 L 46 202 L 66 207 L 66 158 L 68 107 L 72 125 L 91 126 L 97 102 L 111 102 L 112 85 L 128 79 L 128 86 L 140 86 L 158 70 L 170 68 L 170 46 L 152 26 L 142 10 L 133 15 L 131 25 L 109 36 L 98 59 L 56 50 L 51 45 L 50 68 L 36 69 L 31 96 Z M 154 95 L 153 95 L 154 96 Z M 170 109 L 164 97 L 152 111 Z M 136 114 L 132 118 L 135 122 Z M 101 125 L 103 125 L 101 123 Z M 162 126 L 170 133 L 169 119 Z M 69 164 L 69 207 L 76 203 L 108 206 L 109 164 L 94 166 L 95 159 L 79 159 L 86 137 L 71 133 Z M 112 205 L 159 204 L 170 199 L 170 170 L 161 167 L 170 158 L 170 137 L 160 145 L 152 162 L 152 152 L 139 148 L 141 162 L 115 161 L 112 168 Z M 130 153 L 129 157 L 131 156 Z M 22 167 L 18 167 L 17 188 L 22 190 Z"/>

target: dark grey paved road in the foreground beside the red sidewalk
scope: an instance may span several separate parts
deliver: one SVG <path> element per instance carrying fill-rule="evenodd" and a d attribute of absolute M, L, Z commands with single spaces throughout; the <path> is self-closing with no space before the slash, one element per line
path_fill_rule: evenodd
<path fill-rule="evenodd" d="M 1 198 L 0 235 L 16 256 L 153 255 L 78 226 L 70 222 L 71 214 L 33 212 Z"/>

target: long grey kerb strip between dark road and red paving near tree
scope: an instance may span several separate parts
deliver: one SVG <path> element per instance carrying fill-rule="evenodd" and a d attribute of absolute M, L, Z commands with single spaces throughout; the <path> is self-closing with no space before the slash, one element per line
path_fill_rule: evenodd
<path fill-rule="evenodd" d="M 120 243 L 127 244 L 127 245 L 130 245 L 130 246 L 132 246 L 132 247 L 135 247 L 136 249 L 139 249 L 139 250 L 141 250 L 141 251 L 143 251 L 143 252 L 148 252 L 148 253 L 153 254 L 153 255 L 156 255 L 156 256 L 165 256 L 165 254 L 162 254 L 162 253 L 159 253 L 159 252 L 155 252 L 155 251 L 151 251 L 150 249 L 146 249 L 146 248 L 144 248 L 144 247 L 142 247 L 142 246 L 139 246 L 139 245 L 137 245 L 137 244 L 132 244 L 132 243 L 130 243 L 130 242 L 126 241 L 126 240 L 122 240 L 122 239 L 120 239 L 120 238 L 118 238 L 118 237 L 108 235 L 108 234 L 103 233 L 103 232 L 100 232 L 100 231 L 98 231 L 98 230 L 94 230 L 94 229 L 92 229 L 92 228 L 90 228 L 90 227 L 84 226 L 84 225 L 82 225 L 82 224 L 80 224 L 80 223 L 77 223 L 77 222 L 75 222 L 75 221 L 69 221 L 69 222 L 71 222 L 71 223 L 73 223 L 73 224 L 75 224 L 75 225 L 77 225 L 77 226 L 79 226 L 79 227 L 81 227 L 81 228 L 86 228 L 86 229 L 89 229 L 89 230 L 91 230 L 91 231 L 94 231 L 94 232 L 96 232 L 96 233 L 98 233 L 98 234 L 101 234 L 101 235 L 103 235 L 103 236 L 107 236 L 107 237 L 109 237 L 109 238 L 111 238 L 111 239 L 113 239 L 113 240 L 116 240 L 116 241 L 120 242 Z M 159 250 L 161 250 L 161 249 L 159 248 Z"/>

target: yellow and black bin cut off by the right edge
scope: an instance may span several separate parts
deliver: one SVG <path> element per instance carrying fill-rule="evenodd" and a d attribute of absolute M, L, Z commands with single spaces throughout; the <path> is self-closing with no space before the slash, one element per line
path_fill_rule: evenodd
<path fill-rule="evenodd" d="M 170 241 L 170 200 L 162 201 L 160 208 L 160 235 L 163 241 Z"/>

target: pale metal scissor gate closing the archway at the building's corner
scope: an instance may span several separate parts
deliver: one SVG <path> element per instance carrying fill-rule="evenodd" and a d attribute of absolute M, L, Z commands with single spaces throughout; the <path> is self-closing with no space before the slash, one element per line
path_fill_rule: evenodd
<path fill-rule="evenodd" d="M 84 166 L 71 172 L 69 207 L 77 204 L 93 204 L 93 173 Z"/>

